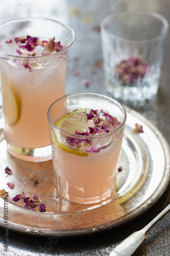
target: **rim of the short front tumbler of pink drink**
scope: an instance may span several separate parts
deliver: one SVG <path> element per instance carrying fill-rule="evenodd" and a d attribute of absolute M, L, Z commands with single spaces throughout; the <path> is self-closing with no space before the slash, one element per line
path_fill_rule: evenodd
<path fill-rule="evenodd" d="M 52 120 L 51 120 L 51 118 L 50 118 L 50 111 L 51 111 L 51 109 L 52 109 L 52 107 L 53 107 L 53 105 L 56 103 L 56 102 L 58 102 L 59 100 L 61 100 L 61 99 L 64 99 L 64 98 L 71 98 L 71 97 L 73 97 L 73 96 L 78 96 L 78 95 L 93 95 L 93 96 L 102 96 L 102 97 L 104 97 L 104 98 L 106 98 L 106 99 L 111 99 L 114 103 L 117 103 L 120 107 L 121 107 L 121 109 L 123 110 L 123 114 L 124 114 L 124 119 L 123 119 L 123 121 L 121 122 L 121 124 L 119 125 L 119 126 L 117 126 L 114 130 L 112 130 L 112 131 L 110 131 L 110 132 L 108 132 L 108 133 L 105 133 L 105 134 L 101 134 L 101 135 L 91 135 L 90 136 L 90 139 L 98 139 L 98 138 L 104 138 L 104 137 L 107 137 L 107 136 L 112 136 L 113 134 L 115 134 L 117 131 L 119 131 L 120 129 L 122 129 L 122 127 L 125 125 L 125 122 L 126 122 L 126 118 L 127 118 L 127 113 L 126 113 L 126 110 L 125 110 L 125 108 L 124 108 L 124 106 L 121 104 L 121 103 L 119 103 L 117 100 L 115 100 L 115 99 L 113 99 L 113 98 L 111 98 L 111 97 L 108 97 L 108 96 L 106 96 L 106 95 L 103 95 L 103 94 L 98 94 L 98 93 L 72 93 L 72 94 L 68 94 L 68 95 L 65 95 L 65 96 L 63 96 L 63 97 L 61 97 L 61 98 L 59 98 L 59 99 L 57 99 L 57 100 L 55 100 L 51 105 L 50 105 L 50 107 L 48 108 L 48 111 L 47 111 L 47 118 L 48 118 L 48 122 L 57 130 L 57 131 L 60 131 L 60 132 L 62 132 L 62 133 L 64 133 L 64 134 L 66 134 L 67 136 L 70 136 L 70 137 L 75 137 L 75 138 L 84 138 L 84 135 L 77 135 L 77 134 L 72 134 L 72 133 L 68 133 L 68 132 L 66 132 L 66 131 L 63 131 L 63 130 L 61 130 L 59 127 L 57 127 L 53 122 L 52 122 Z"/>

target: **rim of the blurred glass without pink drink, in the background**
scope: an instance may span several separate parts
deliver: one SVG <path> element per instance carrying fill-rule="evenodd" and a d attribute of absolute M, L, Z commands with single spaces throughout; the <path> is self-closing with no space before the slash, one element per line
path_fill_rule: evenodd
<path fill-rule="evenodd" d="M 140 41 L 139 40 L 133 40 L 133 39 L 126 39 L 124 37 L 120 37 L 120 36 L 116 36 L 112 33 L 109 33 L 105 26 L 106 26 L 106 22 L 111 18 L 111 17 L 116 17 L 116 16 L 119 16 L 121 14 L 136 14 L 136 15 L 148 15 L 148 16 L 152 16 L 154 18 L 157 18 L 160 20 L 160 22 L 162 22 L 162 24 L 164 25 L 163 27 L 163 32 L 159 35 L 159 36 L 156 36 L 152 39 L 141 39 Z M 140 11 L 136 11 L 136 12 L 131 12 L 131 11 L 127 11 L 127 12 L 118 12 L 118 13 L 110 13 L 108 14 L 107 16 L 105 16 L 102 20 L 102 22 L 100 23 L 101 25 L 101 29 L 103 29 L 110 37 L 112 38 L 115 38 L 115 39 L 118 39 L 120 41 L 128 41 L 128 42 L 135 42 L 137 44 L 143 44 L 143 42 L 154 42 L 154 41 L 157 41 L 163 37 L 166 36 L 167 34 L 167 31 L 168 31 L 168 28 L 169 28 L 169 23 L 167 21 L 167 19 L 162 16 L 161 14 L 159 14 L 158 12 L 154 12 L 154 11 L 143 11 L 143 12 L 140 12 Z"/>

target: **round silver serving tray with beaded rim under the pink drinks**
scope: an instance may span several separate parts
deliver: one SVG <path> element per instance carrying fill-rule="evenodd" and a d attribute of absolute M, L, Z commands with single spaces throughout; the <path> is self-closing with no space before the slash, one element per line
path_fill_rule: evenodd
<path fill-rule="evenodd" d="M 52 161 L 30 163 L 7 153 L 3 131 L 0 133 L 0 189 L 8 196 L 8 222 L 4 221 L 4 197 L 0 198 L 0 226 L 34 236 L 69 237 L 95 233 L 125 224 L 141 215 L 162 195 L 170 178 L 169 146 L 158 129 L 137 112 L 126 108 L 127 122 L 117 174 L 116 195 L 97 204 L 72 203 L 61 198 L 54 186 Z M 143 126 L 143 133 L 133 134 L 135 123 Z M 5 174 L 6 167 L 12 175 Z M 39 183 L 34 184 L 34 173 Z M 9 189 L 8 182 L 14 182 Z M 24 207 L 12 198 L 25 192 L 37 195 L 45 203 L 46 211 Z"/>

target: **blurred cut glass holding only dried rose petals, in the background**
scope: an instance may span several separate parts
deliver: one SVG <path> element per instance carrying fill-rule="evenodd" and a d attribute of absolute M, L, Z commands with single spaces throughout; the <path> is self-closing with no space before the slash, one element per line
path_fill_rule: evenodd
<path fill-rule="evenodd" d="M 156 12 L 110 14 L 101 23 L 107 91 L 124 102 L 157 94 L 167 20 Z"/>

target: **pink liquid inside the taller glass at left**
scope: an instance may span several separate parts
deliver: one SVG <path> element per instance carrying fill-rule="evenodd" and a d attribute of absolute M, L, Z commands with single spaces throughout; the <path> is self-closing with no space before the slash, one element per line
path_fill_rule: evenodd
<path fill-rule="evenodd" d="M 1 69 L 3 102 L 9 102 L 10 94 L 13 94 L 16 110 L 11 111 L 17 112 L 12 113 L 16 120 L 8 121 L 9 103 L 4 103 L 7 141 L 30 149 L 50 144 L 46 113 L 56 97 L 65 94 L 65 72 L 66 57 L 51 67 L 36 68 L 31 72 L 5 62 Z M 7 87 L 10 94 L 6 93 Z"/>

